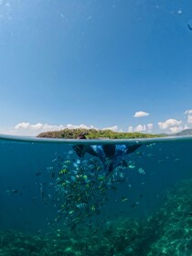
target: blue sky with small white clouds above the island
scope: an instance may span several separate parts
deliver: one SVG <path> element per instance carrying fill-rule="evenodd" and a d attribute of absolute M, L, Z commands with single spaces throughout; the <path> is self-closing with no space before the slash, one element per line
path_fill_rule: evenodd
<path fill-rule="evenodd" d="M 0 0 L 0 133 L 192 128 L 192 2 Z"/>

